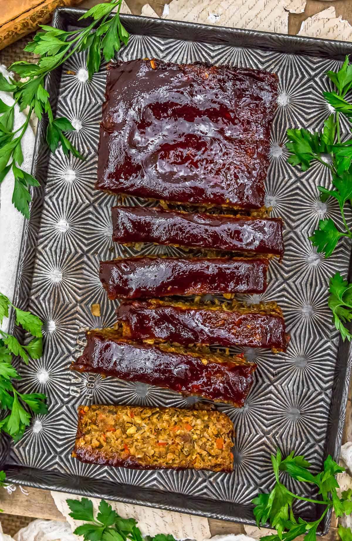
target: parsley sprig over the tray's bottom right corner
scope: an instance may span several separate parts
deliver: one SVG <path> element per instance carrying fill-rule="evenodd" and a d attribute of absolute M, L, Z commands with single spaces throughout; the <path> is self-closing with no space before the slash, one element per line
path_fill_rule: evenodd
<path fill-rule="evenodd" d="M 255 505 L 253 513 L 258 526 L 265 526 L 269 522 L 277 530 L 277 533 L 264 536 L 261 541 L 292 541 L 303 534 L 306 534 L 304 538 L 306 541 L 316 541 L 317 528 L 329 509 L 334 509 L 336 517 L 342 517 L 343 514 L 352 512 L 352 490 L 343 491 L 341 498 L 337 494 L 339 484 L 335 476 L 337 473 L 343 472 L 344 469 L 330 455 L 324 461 L 323 471 L 316 475 L 309 471 L 309 462 L 301 455 L 294 456 L 293 451 L 288 457 L 282 459 L 278 450 L 276 457 L 272 454 L 272 464 L 275 474 L 273 490 L 270 493 L 259 494 L 252 503 Z M 281 483 L 280 472 L 286 472 L 296 481 L 315 485 L 321 499 L 304 498 L 290 492 Z M 313 522 L 307 522 L 302 518 L 296 519 L 292 510 L 295 500 L 321 504 L 324 506 L 324 510 L 321 516 Z M 345 536 L 344 541 L 350 540 Z"/>

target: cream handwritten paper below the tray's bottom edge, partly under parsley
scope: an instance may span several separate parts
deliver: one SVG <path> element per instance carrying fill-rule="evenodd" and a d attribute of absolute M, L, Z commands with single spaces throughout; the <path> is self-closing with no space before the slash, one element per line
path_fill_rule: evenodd
<path fill-rule="evenodd" d="M 70 516 L 70 509 L 66 503 L 66 498 L 78 500 L 79 496 L 67 496 L 64 492 L 51 492 L 56 507 L 64 515 L 67 522 L 72 527 L 72 531 L 77 526 L 82 525 L 79 520 L 73 520 Z M 94 514 L 98 511 L 100 499 L 91 498 L 94 507 Z M 203 541 L 211 537 L 208 520 L 206 518 L 194 517 L 184 513 L 174 513 L 173 511 L 163 511 L 162 509 L 150 509 L 141 505 L 130 505 L 119 502 L 109 502 L 112 509 L 118 512 L 123 518 L 133 517 L 138 521 L 138 527 L 143 536 L 155 536 L 157 533 L 171 533 L 177 539 L 195 539 Z M 83 537 L 79 537 L 83 540 Z"/>

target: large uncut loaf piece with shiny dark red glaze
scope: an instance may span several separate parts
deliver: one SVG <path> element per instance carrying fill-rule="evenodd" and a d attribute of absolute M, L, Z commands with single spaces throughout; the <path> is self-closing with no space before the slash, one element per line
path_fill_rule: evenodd
<path fill-rule="evenodd" d="M 277 77 L 133 60 L 107 70 L 96 188 L 166 201 L 260 208 Z"/>

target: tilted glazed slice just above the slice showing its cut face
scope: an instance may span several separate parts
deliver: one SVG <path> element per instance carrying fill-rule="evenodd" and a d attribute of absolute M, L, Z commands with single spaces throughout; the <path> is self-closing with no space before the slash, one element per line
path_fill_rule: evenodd
<path fill-rule="evenodd" d="M 242 357 L 170 344 L 138 344 L 122 338 L 114 329 L 96 329 L 87 333 L 83 355 L 71 368 L 241 407 L 253 383 L 256 365 Z"/>

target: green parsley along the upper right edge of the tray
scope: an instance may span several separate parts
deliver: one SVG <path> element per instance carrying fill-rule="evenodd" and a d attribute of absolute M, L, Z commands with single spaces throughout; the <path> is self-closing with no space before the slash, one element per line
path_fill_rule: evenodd
<path fill-rule="evenodd" d="M 287 130 L 289 142 L 286 146 L 290 153 L 288 162 L 292 166 L 307 171 L 318 161 L 331 173 L 333 186 L 330 189 L 317 186 L 317 189 L 321 201 L 333 197 L 339 203 L 344 228 L 341 230 L 331 218 L 326 218 L 319 221 L 318 229 L 309 237 L 317 252 L 324 253 L 325 257 L 329 258 L 340 239 L 352 239 L 352 230 L 345 216 L 346 206 L 352 204 L 352 138 L 342 142 L 340 127 L 340 115 L 344 115 L 348 120 L 352 119 L 352 103 L 346 100 L 352 89 L 352 64 L 349 63 L 348 56 L 339 71 L 328 71 L 327 76 L 335 85 L 335 91 L 323 92 L 323 96 L 335 112 L 324 122 L 322 131 L 312 133 L 303 128 Z M 342 339 L 349 341 L 352 334 L 346 325 L 352 320 L 351 288 L 352 284 L 344 280 L 339 273 L 330 278 L 328 304 L 333 312 L 333 321 Z"/>

